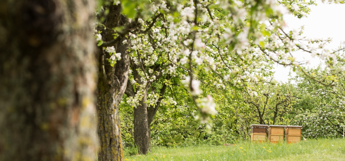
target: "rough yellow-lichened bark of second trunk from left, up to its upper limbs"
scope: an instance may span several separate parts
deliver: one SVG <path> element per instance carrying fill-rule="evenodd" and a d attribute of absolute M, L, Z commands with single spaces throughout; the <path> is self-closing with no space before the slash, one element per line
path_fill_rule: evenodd
<path fill-rule="evenodd" d="M 121 7 L 112 5 L 109 7 L 109 14 L 103 24 L 107 27 L 102 30 L 103 40 L 110 42 L 114 40 L 111 30 L 117 26 L 127 23 L 127 19 L 121 15 Z M 97 111 L 98 111 L 98 135 L 100 148 L 98 151 L 99 161 L 124 160 L 122 148 L 119 103 L 125 93 L 128 74 L 129 56 L 127 54 L 128 44 L 121 42 L 123 37 L 114 45 L 116 52 L 121 53 L 121 60 L 112 67 L 107 61 L 109 54 L 99 49 L 98 55 L 98 85 L 97 85 Z"/>

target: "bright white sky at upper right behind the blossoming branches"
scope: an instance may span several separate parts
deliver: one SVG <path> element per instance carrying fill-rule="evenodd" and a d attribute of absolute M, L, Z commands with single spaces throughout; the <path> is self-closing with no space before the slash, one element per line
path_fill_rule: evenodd
<path fill-rule="evenodd" d="M 341 42 L 345 41 L 345 4 L 324 4 L 321 1 L 317 3 L 317 6 L 310 7 L 312 11 L 307 18 L 298 19 L 293 15 L 285 15 L 284 20 L 289 30 L 299 29 L 304 25 L 303 35 L 306 37 L 319 39 L 331 37 L 332 43 L 327 48 L 336 49 Z M 321 62 L 306 52 L 295 54 L 299 60 L 309 60 L 309 67 L 315 67 Z M 288 81 L 290 67 L 277 64 L 273 71 L 275 71 L 274 77 L 277 81 Z"/>

